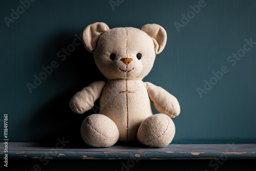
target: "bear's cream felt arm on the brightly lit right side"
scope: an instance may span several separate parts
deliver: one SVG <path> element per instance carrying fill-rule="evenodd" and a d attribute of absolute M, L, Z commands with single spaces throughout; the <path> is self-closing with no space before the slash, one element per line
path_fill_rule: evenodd
<path fill-rule="evenodd" d="M 171 118 L 180 114 L 180 104 L 176 97 L 169 94 L 163 88 L 155 86 L 153 83 L 144 82 L 144 85 L 150 100 L 158 112 L 168 115 Z"/>

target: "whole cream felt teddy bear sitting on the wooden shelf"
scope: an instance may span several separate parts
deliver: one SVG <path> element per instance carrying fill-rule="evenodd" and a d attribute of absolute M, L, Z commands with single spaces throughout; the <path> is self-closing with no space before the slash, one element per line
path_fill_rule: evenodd
<path fill-rule="evenodd" d="M 180 114 L 177 98 L 142 79 L 151 71 L 156 55 L 166 44 L 166 31 L 157 24 L 141 29 L 113 28 L 94 23 L 83 31 L 83 44 L 106 81 L 96 81 L 70 100 L 73 112 L 83 114 L 100 98 L 98 114 L 81 125 L 83 141 L 92 147 L 110 147 L 117 141 L 139 141 L 164 147 L 175 135 L 171 118 Z M 151 102 L 159 114 L 153 114 Z"/>

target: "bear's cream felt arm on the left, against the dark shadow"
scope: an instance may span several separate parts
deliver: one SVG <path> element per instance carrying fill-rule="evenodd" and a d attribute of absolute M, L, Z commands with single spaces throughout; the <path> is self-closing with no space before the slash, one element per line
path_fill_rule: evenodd
<path fill-rule="evenodd" d="M 95 101 L 105 86 L 105 81 L 96 81 L 77 92 L 70 100 L 69 106 L 75 113 L 82 114 L 92 109 Z"/>

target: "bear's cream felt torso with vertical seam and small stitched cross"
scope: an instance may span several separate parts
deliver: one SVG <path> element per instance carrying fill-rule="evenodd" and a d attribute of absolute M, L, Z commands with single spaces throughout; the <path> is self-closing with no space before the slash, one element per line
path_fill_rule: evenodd
<path fill-rule="evenodd" d="M 141 122 L 153 115 L 143 81 L 108 80 L 100 98 L 99 113 L 116 123 L 120 141 L 136 140 Z"/>

